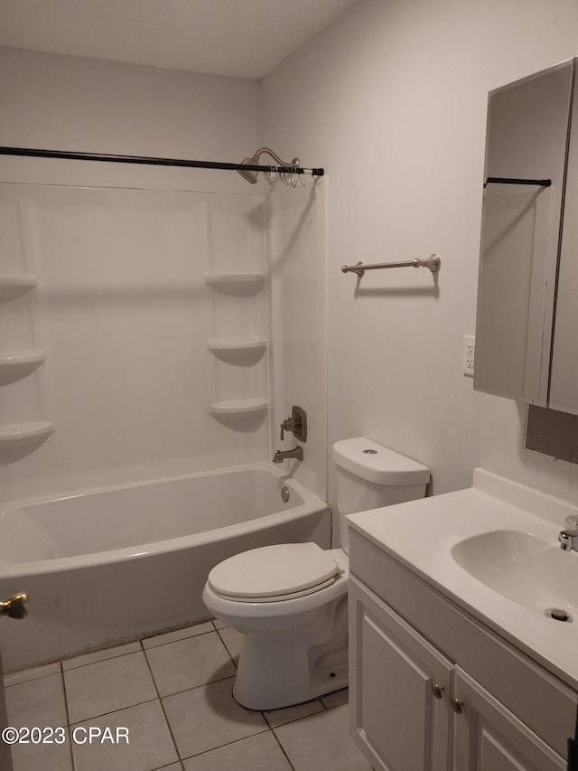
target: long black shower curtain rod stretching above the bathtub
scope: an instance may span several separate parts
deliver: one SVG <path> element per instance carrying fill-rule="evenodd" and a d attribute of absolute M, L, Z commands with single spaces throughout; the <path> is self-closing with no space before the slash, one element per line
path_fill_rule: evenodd
<path fill-rule="evenodd" d="M 272 166 L 226 164 L 219 161 L 187 161 L 182 158 L 154 158 L 146 155 L 107 155 L 106 153 L 75 153 L 68 150 L 39 150 L 33 147 L 2 147 L 0 155 L 23 155 L 33 158 L 66 158 L 73 161 L 104 161 L 110 164 L 142 164 L 152 166 L 181 166 L 195 169 L 225 169 L 230 171 L 272 172 L 276 174 L 312 174 L 323 176 L 323 169 L 305 169 L 302 166 Z"/>

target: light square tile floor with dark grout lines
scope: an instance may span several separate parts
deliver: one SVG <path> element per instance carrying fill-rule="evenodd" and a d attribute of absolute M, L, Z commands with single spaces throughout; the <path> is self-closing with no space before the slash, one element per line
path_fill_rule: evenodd
<path fill-rule="evenodd" d="M 53 737 L 62 743 L 14 745 L 14 771 L 370 771 L 348 735 L 347 690 L 285 710 L 240 707 L 240 642 L 208 622 L 6 675 L 11 725 L 66 730 Z"/>

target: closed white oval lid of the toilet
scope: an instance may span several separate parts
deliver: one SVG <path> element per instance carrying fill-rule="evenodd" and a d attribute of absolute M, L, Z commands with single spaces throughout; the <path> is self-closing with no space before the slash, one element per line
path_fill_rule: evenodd
<path fill-rule="evenodd" d="M 257 601 L 307 594 L 331 584 L 340 572 L 316 543 L 280 543 L 225 559 L 210 571 L 209 585 L 219 595 Z"/>

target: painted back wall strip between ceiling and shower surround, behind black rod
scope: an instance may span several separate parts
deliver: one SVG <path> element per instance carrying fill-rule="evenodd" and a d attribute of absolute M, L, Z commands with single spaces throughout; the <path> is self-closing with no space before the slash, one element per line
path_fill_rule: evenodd
<path fill-rule="evenodd" d="M 5 146 L 236 162 L 262 140 L 256 80 L 9 48 L 0 48 L 0 71 Z M 0 171 L 3 181 L 247 193 L 227 171 L 7 156 Z"/>

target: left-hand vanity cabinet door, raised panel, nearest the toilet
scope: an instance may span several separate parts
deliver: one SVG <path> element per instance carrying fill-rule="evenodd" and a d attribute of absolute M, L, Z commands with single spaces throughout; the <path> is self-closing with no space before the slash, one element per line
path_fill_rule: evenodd
<path fill-rule="evenodd" d="M 349 601 L 353 737 L 375 769 L 449 771 L 452 663 L 355 578 Z"/>

